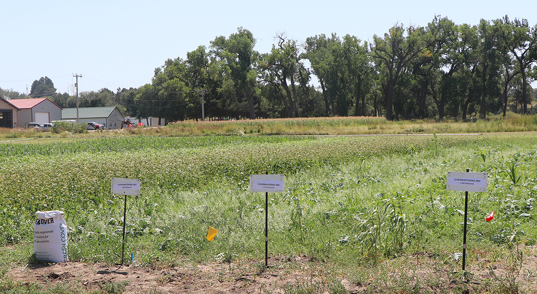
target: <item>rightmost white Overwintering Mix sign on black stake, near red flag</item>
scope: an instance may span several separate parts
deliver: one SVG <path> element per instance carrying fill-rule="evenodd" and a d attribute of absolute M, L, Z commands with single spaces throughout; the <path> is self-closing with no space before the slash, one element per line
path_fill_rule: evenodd
<path fill-rule="evenodd" d="M 448 191 L 465 191 L 465 224 L 462 237 L 462 270 L 466 270 L 466 225 L 468 221 L 468 191 L 485 192 L 487 191 L 487 173 L 486 172 L 447 172 L 447 190 Z"/>

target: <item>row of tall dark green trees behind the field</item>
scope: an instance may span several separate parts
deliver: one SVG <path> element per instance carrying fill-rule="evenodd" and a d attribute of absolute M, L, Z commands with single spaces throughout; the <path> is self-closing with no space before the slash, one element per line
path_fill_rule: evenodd
<path fill-rule="evenodd" d="M 270 52 L 260 53 L 253 34 L 240 27 L 184 59 L 166 60 L 149 84 L 82 92 L 80 106 L 116 105 L 127 115 L 168 121 L 201 119 L 202 101 L 209 119 L 467 119 L 537 112 L 531 87 L 537 25 L 525 19 L 458 25 L 437 16 L 424 27 L 396 24 L 371 42 L 335 33 L 303 43 L 285 34 L 274 40 Z M 34 81 L 30 96 L 51 92 L 45 77 Z M 75 107 L 76 97 L 67 93 L 49 96 L 61 107 Z"/>

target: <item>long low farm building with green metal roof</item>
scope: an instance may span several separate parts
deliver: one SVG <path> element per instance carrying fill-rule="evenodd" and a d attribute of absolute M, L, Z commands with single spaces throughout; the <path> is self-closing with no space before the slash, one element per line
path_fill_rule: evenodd
<path fill-rule="evenodd" d="M 119 129 L 123 115 L 115 106 L 79 107 L 78 118 L 80 123 L 95 122 L 105 125 L 106 129 Z M 62 110 L 62 119 L 76 120 L 76 108 L 64 108 Z"/>

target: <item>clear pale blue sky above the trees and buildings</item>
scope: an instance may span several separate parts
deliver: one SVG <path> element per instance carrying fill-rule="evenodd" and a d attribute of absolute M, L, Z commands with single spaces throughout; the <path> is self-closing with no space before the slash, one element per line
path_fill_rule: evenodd
<path fill-rule="evenodd" d="M 30 92 L 49 77 L 57 93 L 116 92 L 149 84 L 156 67 L 186 58 L 217 36 L 252 32 L 269 52 L 285 33 L 302 43 L 319 34 L 372 41 L 395 24 L 426 26 L 434 16 L 455 24 L 505 15 L 537 24 L 537 1 L 8 1 L 0 4 L 0 88 Z"/>

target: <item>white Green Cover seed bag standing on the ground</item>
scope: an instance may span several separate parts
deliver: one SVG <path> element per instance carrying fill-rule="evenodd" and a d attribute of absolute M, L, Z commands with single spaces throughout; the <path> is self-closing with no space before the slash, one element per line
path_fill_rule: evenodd
<path fill-rule="evenodd" d="M 34 224 L 35 259 L 49 262 L 67 262 L 67 224 L 59 210 L 36 212 Z"/>

